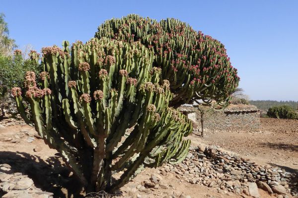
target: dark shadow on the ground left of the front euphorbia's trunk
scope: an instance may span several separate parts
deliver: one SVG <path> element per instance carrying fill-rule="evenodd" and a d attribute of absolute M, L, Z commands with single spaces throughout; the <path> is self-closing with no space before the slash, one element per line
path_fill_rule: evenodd
<path fill-rule="evenodd" d="M 54 198 L 83 198 L 78 179 L 61 163 L 59 156 L 43 160 L 26 152 L 0 151 L 0 164 L 2 163 L 11 166 L 10 171 L 2 172 L 28 175 L 37 188 L 53 193 Z"/>

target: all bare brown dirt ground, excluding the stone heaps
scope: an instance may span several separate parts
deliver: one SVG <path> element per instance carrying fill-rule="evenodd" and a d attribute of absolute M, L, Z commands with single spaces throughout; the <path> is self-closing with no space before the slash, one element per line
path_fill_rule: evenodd
<path fill-rule="evenodd" d="M 261 119 L 259 133 L 207 132 L 204 138 L 191 135 L 194 145 L 219 145 L 227 150 L 247 156 L 260 164 L 271 164 L 298 170 L 298 121 Z M 34 140 L 32 141 L 32 139 Z M 13 143 L 14 142 L 14 143 Z M 31 142 L 31 143 L 29 143 Z M 29 126 L 9 126 L 0 130 L 0 164 L 11 165 L 11 173 L 22 172 L 33 179 L 36 187 L 54 193 L 57 198 L 79 198 L 81 190 L 75 176 L 65 167 L 56 150 L 48 148 L 43 140 L 34 137 Z M 161 183 L 168 189 L 153 189 L 153 192 L 139 192 L 137 187 L 149 180 L 151 174 L 159 175 Z M 241 198 L 241 196 L 218 192 L 198 184 L 190 184 L 178 179 L 175 174 L 160 175 L 159 169 L 146 169 L 122 189 L 124 197 L 163 198 L 181 194 L 191 198 Z M 259 190 L 261 198 L 270 198 Z M 74 194 L 75 196 L 71 196 Z"/>

